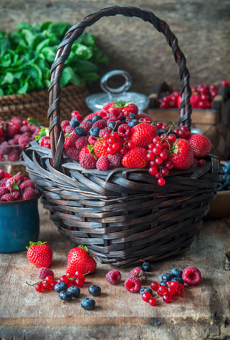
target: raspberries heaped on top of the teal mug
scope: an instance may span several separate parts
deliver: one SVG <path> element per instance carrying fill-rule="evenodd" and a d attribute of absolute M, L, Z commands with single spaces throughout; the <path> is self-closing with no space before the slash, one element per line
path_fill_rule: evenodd
<path fill-rule="evenodd" d="M 0 202 L 28 200 L 38 194 L 34 182 L 20 173 L 10 175 L 0 169 Z"/>

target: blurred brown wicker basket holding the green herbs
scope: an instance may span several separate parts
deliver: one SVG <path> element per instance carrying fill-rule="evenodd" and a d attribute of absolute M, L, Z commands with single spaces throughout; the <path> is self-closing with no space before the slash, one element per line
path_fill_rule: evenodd
<path fill-rule="evenodd" d="M 25 95 L 0 97 L 0 119 L 10 121 L 12 117 L 35 118 L 42 126 L 47 126 L 48 91 L 40 90 Z M 85 116 L 89 110 L 85 98 L 89 95 L 85 84 L 67 85 L 62 88 L 62 119 L 69 120 L 70 113 L 78 110 Z"/>

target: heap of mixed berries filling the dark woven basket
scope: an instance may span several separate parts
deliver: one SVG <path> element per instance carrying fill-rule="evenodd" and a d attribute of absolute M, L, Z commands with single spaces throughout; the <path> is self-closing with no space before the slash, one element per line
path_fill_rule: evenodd
<path fill-rule="evenodd" d="M 148 168 L 159 185 L 169 170 L 203 166 L 211 150 L 204 135 L 193 135 L 186 126 L 174 129 L 150 116 L 138 114 L 133 103 L 106 104 L 101 111 L 83 118 L 78 111 L 71 120 L 61 122 L 65 134 L 64 156 L 79 162 L 84 169 L 113 170 L 117 167 Z M 49 136 L 40 146 L 50 148 Z"/>

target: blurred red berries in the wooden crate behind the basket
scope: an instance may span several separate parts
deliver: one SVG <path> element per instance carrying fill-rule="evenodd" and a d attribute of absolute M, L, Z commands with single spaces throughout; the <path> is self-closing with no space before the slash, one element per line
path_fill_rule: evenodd
<path fill-rule="evenodd" d="M 221 86 L 227 86 L 228 82 L 223 80 Z M 218 94 L 218 88 L 215 84 L 199 84 L 197 87 L 191 85 L 192 96 L 191 105 L 193 108 L 199 109 L 211 109 L 212 101 Z M 179 91 L 173 91 L 170 95 L 167 95 L 159 99 L 159 107 L 161 108 L 176 108 L 180 107 L 181 96 Z"/>

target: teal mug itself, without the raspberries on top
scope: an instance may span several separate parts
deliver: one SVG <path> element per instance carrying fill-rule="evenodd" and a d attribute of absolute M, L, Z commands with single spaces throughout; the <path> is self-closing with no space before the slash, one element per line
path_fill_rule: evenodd
<path fill-rule="evenodd" d="M 37 200 L 40 192 L 25 201 L 0 202 L 0 253 L 26 250 L 39 236 Z"/>

